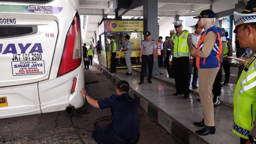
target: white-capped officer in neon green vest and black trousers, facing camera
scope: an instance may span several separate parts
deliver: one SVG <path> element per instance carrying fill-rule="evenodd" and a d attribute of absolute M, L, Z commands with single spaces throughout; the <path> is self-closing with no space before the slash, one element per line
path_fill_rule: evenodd
<path fill-rule="evenodd" d="M 176 93 L 173 95 L 184 94 L 184 99 L 189 98 L 189 64 L 193 63 L 193 57 L 190 57 L 192 50 L 191 34 L 187 30 L 182 31 L 182 21 L 173 22 L 176 34 L 172 35 L 171 54 L 169 64 L 174 61 L 174 79 Z M 173 58 L 172 58 L 173 57 Z"/>

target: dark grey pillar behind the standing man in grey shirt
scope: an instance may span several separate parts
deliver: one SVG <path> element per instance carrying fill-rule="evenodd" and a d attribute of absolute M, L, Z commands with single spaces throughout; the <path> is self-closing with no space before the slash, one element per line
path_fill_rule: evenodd
<path fill-rule="evenodd" d="M 158 40 L 158 23 L 157 23 L 157 1 L 156 0 L 143 0 L 143 31 L 144 34 L 146 31 L 151 33 L 151 39 L 156 41 Z M 145 39 L 145 37 L 144 37 Z M 157 52 L 157 48 L 156 48 Z M 153 65 L 153 75 L 159 74 L 158 57 L 156 54 L 156 62 Z M 146 75 L 148 75 L 148 66 L 146 68 Z"/>

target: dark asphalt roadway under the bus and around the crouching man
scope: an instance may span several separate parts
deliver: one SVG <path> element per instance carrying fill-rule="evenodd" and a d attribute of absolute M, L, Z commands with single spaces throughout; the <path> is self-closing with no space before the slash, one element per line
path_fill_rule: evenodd
<path fill-rule="evenodd" d="M 115 83 L 105 74 L 100 74 L 95 66 L 84 70 L 87 93 L 94 98 L 104 98 L 115 93 Z M 81 95 L 82 96 L 82 95 Z M 110 109 L 96 109 L 87 102 L 77 112 L 83 118 L 72 118 L 80 137 L 85 143 L 96 143 L 92 139 L 94 120 L 110 116 Z M 177 144 L 177 140 L 158 125 L 148 114 L 139 109 L 139 144 Z M 97 126 L 109 125 L 111 121 L 100 122 Z M 74 132 L 65 111 L 43 113 L 21 117 L 4 118 L 0 121 L 0 143 L 81 143 Z"/>

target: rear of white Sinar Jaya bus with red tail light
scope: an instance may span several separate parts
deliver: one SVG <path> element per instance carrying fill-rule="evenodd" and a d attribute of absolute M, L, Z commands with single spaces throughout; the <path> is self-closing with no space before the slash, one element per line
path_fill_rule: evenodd
<path fill-rule="evenodd" d="M 0 118 L 84 105 L 78 0 L 0 0 Z"/>

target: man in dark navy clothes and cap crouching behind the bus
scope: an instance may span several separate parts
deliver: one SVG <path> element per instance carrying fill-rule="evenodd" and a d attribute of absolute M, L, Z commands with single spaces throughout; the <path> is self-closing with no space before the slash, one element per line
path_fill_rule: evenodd
<path fill-rule="evenodd" d="M 99 144 L 136 144 L 140 138 L 138 104 L 129 96 L 130 86 L 125 80 L 116 85 L 116 93 L 109 97 L 95 100 L 82 87 L 80 93 L 95 108 L 111 108 L 112 125 L 99 127 L 92 133 L 93 139 Z"/>

